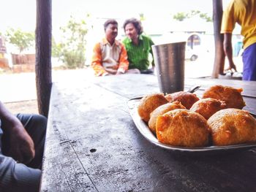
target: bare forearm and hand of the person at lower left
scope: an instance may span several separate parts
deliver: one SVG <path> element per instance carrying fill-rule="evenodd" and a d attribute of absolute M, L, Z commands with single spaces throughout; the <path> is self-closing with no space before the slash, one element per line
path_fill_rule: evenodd
<path fill-rule="evenodd" d="M 12 156 L 16 161 L 26 164 L 34 158 L 34 142 L 26 132 L 20 120 L 12 115 L 0 101 L 1 128 L 4 137 L 9 141 L 6 155 Z"/>

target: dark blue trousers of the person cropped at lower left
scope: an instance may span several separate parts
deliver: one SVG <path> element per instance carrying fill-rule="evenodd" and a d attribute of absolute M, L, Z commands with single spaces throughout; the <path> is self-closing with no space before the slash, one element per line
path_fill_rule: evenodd
<path fill-rule="evenodd" d="M 38 191 L 41 179 L 42 155 L 45 145 L 45 132 L 47 119 L 42 115 L 18 114 L 17 118 L 26 128 L 34 141 L 35 157 L 27 165 L 18 164 L 12 157 L 7 157 L 4 152 L 8 149 L 8 140 L 1 139 L 0 128 L 0 191 L 21 192 Z"/>

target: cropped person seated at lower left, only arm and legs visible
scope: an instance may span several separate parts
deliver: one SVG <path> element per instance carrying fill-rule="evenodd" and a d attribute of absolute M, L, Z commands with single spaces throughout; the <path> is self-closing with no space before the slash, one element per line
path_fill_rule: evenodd
<path fill-rule="evenodd" d="M 39 191 L 47 119 L 12 115 L 0 101 L 0 191 Z"/>

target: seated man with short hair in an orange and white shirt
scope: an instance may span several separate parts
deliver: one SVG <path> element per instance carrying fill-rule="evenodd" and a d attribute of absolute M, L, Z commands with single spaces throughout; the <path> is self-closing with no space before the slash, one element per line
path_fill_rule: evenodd
<path fill-rule="evenodd" d="M 96 76 L 124 74 L 128 71 L 127 51 L 121 42 L 116 40 L 118 23 L 110 19 L 104 23 L 105 38 L 94 46 L 91 66 Z M 133 70 L 134 71 L 134 70 Z"/>

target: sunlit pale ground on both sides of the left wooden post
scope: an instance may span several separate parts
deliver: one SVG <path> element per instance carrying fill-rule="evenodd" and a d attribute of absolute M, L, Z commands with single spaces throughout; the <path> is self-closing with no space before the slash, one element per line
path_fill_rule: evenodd
<path fill-rule="evenodd" d="M 69 78 L 94 77 L 94 74 L 91 69 L 53 70 L 52 76 L 53 82 L 68 82 Z M 10 112 L 39 114 L 34 73 L 2 73 L 0 90 L 0 99 Z"/>

